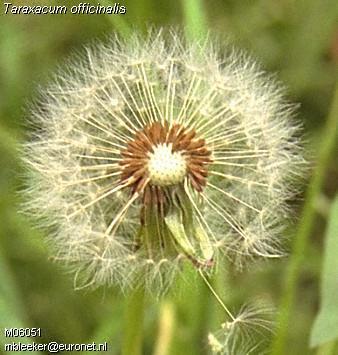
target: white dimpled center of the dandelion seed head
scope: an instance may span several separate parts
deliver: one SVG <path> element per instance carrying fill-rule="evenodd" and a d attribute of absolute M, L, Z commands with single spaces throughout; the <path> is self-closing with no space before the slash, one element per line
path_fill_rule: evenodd
<path fill-rule="evenodd" d="M 181 152 L 172 152 L 172 144 L 158 144 L 149 153 L 148 173 L 153 185 L 178 184 L 187 174 L 187 163 Z"/>

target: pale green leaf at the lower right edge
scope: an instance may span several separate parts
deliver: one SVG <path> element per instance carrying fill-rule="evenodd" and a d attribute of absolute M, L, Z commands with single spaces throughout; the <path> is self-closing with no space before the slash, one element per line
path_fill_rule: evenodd
<path fill-rule="evenodd" d="M 338 195 L 331 208 L 325 239 L 321 307 L 315 319 L 310 346 L 338 338 Z"/>

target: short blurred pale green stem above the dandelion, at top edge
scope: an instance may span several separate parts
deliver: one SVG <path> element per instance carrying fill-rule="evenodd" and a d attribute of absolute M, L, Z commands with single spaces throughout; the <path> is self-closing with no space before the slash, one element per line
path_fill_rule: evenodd
<path fill-rule="evenodd" d="M 202 0 L 182 0 L 186 35 L 190 40 L 200 39 L 207 33 L 205 9 Z"/>

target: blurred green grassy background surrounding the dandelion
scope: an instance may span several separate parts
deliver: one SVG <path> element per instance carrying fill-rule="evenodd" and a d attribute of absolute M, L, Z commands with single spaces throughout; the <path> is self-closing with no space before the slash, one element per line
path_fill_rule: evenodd
<path fill-rule="evenodd" d="M 70 7 L 78 2 L 26 0 L 14 4 L 33 3 Z M 100 3 L 107 5 L 109 1 Z M 189 11 L 191 3 L 194 1 L 121 1 L 127 13 L 118 16 L 5 15 L 1 9 L 0 353 L 2 344 L 9 342 L 3 328 L 27 326 L 42 328 L 40 342 L 107 341 L 108 353 L 119 354 L 125 300 L 112 288 L 75 291 L 73 276 L 49 259 L 43 234 L 17 212 L 22 186 L 18 148 L 26 139 L 29 102 L 37 87 L 48 84 L 50 74 L 65 58 L 112 32 L 127 35 L 130 27 L 146 31 L 151 25 L 184 25 L 189 18 L 185 11 Z M 312 161 L 303 187 L 306 191 L 318 166 L 317 153 L 325 140 L 323 129 L 337 81 L 337 0 L 205 0 L 202 7 L 208 29 L 222 33 L 237 47 L 252 53 L 268 71 L 277 73 L 288 87 L 290 100 L 300 103 L 298 118 L 305 127 L 306 150 Z M 298 265 L 300 277 L 294 281 L 296 293 L 288 319 L 287 348 L 280 354 L 338 354 L 338 349 L 335 352 L 332 347 L 311 350 L 308 345 L 320 302 L 323 243 L 330 204 L 337 190 L 337 154 L 330 155 L 322 171 L 325 175 L 321 191 L 311 197 L 315 203 L 314 228 L 304 242 L 306 248 Z M 300 196 L 294 201 L 295 224 L 287 231 L 290 258 L 306 198 Z M 225 267 L 214 285 L 230 307 L 236 308 L 252 298 L 266 299 L 278 307 L 287 292 L 284 281 L 289 262 L 289 258 L 264 262 L 241 274 Z M 206 286 L 196 278 L 177 287 L 165 302 L 163 306 L 157 300 L 147 300 L 144 354 L 208 354 L 207 331 L 217 327 L 223 314 Z M 159 331 L 165 321 L 169 325 Z M 163 329 L 170 338 L 167 352 L 156 350 Z"/>

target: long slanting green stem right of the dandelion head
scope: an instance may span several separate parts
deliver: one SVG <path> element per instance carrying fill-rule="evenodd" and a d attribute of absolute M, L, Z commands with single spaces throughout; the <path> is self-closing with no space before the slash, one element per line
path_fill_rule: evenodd
<path fill-rule="evenodd" d="M 338 85 L 329 113 L 326 127 L 324 128 L 322 145 L 319 150 L 318 164 L 313 172 L 312 179 L 307 189 L 305 205 L 298 224 L 298 230 L 294 239 L 289 266 L 286 270 L 284 294 L 281 300 L 277 333 L 272 344 L 272 355 L 285 354 L 285 345 L 289 329 L 289 320 L 296 296 L 297 284 L 301 272 L 301 266 L 306 255 L 306 245 L 315 222 L 316 199 L 321 192 L 327 168 L 333 153 L 337 136 L 338 118 Z"/>

